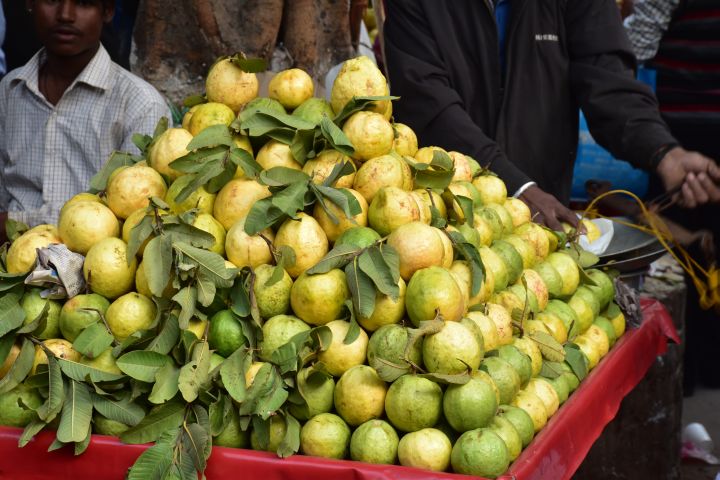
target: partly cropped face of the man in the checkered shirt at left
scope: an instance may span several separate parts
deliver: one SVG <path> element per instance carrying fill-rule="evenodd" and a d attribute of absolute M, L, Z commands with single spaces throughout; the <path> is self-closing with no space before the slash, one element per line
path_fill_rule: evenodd
<path fill-rule="evenodd" d="M 52 54 L 70 57 L 97 48 L 113 9 L 101 0 L 32 0 L 35 30 Z"/>

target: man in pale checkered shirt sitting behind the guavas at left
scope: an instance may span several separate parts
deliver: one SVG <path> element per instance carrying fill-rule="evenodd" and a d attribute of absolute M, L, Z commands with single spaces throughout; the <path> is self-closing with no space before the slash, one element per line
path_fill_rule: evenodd
<path fill-rule="evenodd" d="M 7 218 L 55 223 L 114 150 L 171 117 L 160 94 L 100 44 L 114 0 L 32 0 L 44 45 L 0 82 L 0 241 Z"/>

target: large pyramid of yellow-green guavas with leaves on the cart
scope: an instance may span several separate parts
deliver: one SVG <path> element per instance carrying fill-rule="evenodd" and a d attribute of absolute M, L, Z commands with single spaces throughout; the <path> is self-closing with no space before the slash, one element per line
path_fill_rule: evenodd
<path fill-rule="evenodd" d="M 502 474 L 622 335 L 611 279 L 418 148 L 367 58 L 329 103 L 297 69 L 256 98 L 253 65 L 2 252 L 0 424 L 155 442 L 129 478 L 194 478 L 212 445 Z M 23 283 L 54 243 L 86 293 Z"/>

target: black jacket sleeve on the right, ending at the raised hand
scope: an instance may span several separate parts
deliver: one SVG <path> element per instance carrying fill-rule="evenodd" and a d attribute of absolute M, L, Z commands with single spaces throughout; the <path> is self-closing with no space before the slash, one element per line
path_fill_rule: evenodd
<path fill-rule="evenodd" d="M 590 133 L 615 157 L 652 170 L 656 153 L 677 145 L 649 87 L 634 77 L 635 57 L 614 0 L 567 2 L 570 81 Z"/>

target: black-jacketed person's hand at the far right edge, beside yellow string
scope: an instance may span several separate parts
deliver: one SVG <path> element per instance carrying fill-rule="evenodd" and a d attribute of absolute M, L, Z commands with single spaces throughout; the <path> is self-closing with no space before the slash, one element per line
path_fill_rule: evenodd
<path fill-rule="evenodd" d="M 657 173 L 667 190 L 681 186 L 684 207 L 720 203 L 720 167 L 700 153 L 673 148 L 660 161 Z"/>

